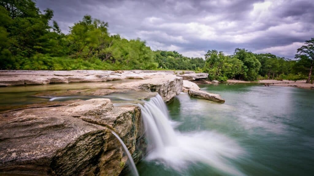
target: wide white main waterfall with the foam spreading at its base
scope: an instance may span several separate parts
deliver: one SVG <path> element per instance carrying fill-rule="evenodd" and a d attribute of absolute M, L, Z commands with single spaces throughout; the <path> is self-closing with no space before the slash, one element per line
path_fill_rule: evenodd
<path fill-rule="evenodd" d="M 216 132 L 175 131 L 168 117 L 167 107 L 160 95 L 139 105 L 142 112 L 146 137 L 148 138 L 149 161 L 162 161 L 167 166 L 182 170 L 188 163 L 206 163 L 224 174 L 244 175 L 232 167 L 234 159 L 243 150 L 231 139 Z"/>

